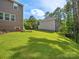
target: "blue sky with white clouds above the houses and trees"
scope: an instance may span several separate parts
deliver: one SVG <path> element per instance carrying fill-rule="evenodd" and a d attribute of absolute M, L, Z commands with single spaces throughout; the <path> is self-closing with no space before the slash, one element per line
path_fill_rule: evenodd
<path fill-rule="evenodd" d="M 33 15 L 37 19 L 44 19 L 45 12 L 53 12 L 57 7 L 63 8 L 65 0 L 17 0 L 24 5 L 24 19 Z"/>

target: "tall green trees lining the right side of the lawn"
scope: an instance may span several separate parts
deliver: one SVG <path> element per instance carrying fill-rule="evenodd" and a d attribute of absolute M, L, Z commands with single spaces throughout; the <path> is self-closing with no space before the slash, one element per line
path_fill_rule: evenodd
<path fill-rule="evenodd" d="M 63 8 L 56 10 L 49 16 L 54 16 L 59 23 L 59 32 L 63 35 L 74 38 L 76 42 L 79 40 L 79 1 L 66 0 L 67 3 Z"/>

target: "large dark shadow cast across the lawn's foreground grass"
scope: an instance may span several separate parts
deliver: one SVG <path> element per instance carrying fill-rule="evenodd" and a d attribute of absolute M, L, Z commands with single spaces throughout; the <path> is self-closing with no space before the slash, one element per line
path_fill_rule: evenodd
<path fill-rule="evenodd" d="M 73 50 L 69 47 L 68 42 L 63 43 L 35 37 L 30 37 L 29 39 L 26 46 L 10 49 L 15 52 L 10 59 L 78 59 L 79 57 L 65 54 L 66 51 Z M 78 53 L 75 50 L 74 52 L 75 54 Z"/>

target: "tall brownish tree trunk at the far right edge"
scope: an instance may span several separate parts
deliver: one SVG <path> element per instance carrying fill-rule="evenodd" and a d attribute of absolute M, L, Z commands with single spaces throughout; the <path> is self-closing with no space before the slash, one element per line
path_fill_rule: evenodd
<path fill-rule="evenodd" d="M 73 2 L 73 18 L 74 18 L 74 37 L 76 39 L 76 42 L 78 42 L 79 36 L 79 18 L 78 18 L 78 12 L 79 12 L 79 2 L 78 0 L 72 0 Z"/>

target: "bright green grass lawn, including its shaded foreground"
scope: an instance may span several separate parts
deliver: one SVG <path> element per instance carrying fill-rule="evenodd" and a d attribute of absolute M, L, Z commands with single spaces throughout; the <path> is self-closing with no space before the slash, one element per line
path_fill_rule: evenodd
<path fill-rule="evenodd" d="M 12 32 L 0 35 L 0 59 L 79 59 L 79 46 L 57 33 Z"/>

